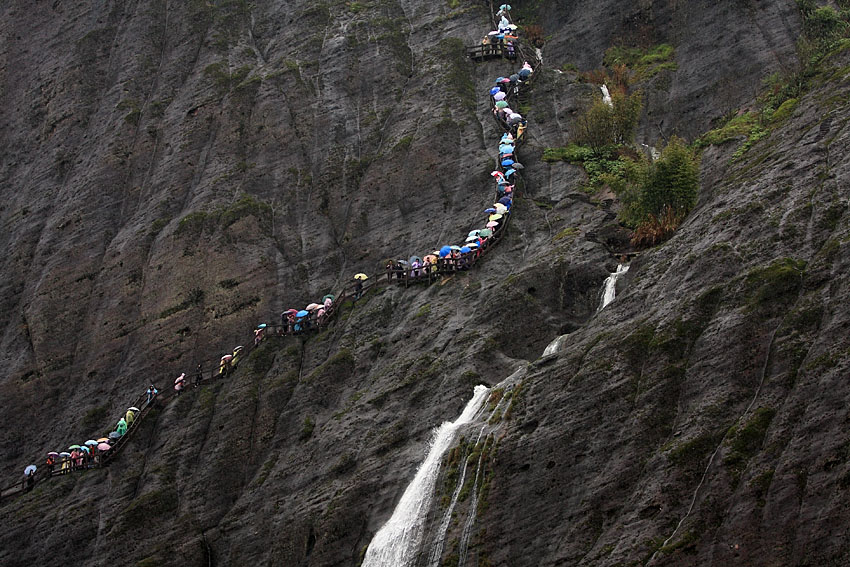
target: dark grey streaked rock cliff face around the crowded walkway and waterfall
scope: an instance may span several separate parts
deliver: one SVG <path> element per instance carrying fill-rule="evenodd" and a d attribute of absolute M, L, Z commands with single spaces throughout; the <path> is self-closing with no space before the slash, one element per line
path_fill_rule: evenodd
<path fill-rule="evenodd" d="M 846 76 L 819 77 L 743 158 L 708 148 L 695 211 L 594 316 L 614 216 L 578 168 L 539 159 L 595 88 L 569 64 L 674 45 L 639 141 L 693 138 L 794 65 L 799 17 L 790 1 L 516 10 L 548 37 L 526 198 L 497 251 L 441 285 L 367 295 L 320 336 L 268 341 L 145 420 L 108 469 L 4 502 L 4 564 L 55 549 L 90 565 L 357 564 L 431 428 L 564 333 L 492 451 L 469 557 L 846 559 Z M 0 14 L 4 478 L 257 322 L 466 234 L 489 204 L 486 93 L 506 67 L 462 49 L 489 27 L 484 4 Z"/>

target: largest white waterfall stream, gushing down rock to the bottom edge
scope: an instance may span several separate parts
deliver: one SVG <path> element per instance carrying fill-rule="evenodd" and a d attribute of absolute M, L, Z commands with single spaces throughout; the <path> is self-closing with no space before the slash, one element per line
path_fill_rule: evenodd
<path fill-rule="evenodd" d="M 486 386 L 476 386 L 460 417 L 453 422 L 444 422 L 434 432 L 428 455 L 404 491 L 393 515 L 369 543 L 362 567 L 409 567 L 416 559 L 443 453 L 451 446 L 458 428 L 475 418 L 489 392 Z"/>

